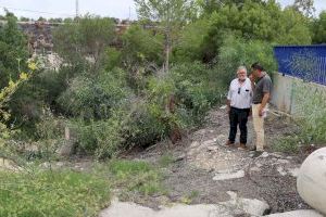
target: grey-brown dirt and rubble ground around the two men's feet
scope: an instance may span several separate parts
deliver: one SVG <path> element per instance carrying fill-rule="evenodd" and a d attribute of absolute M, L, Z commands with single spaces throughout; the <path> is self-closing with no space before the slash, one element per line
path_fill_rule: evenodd
<path fill-rule="evenodd" d="M 228 136 L 228 119 L 223 108 L 212 110 L 203 126 L 183 141 L 172 145 L 161 142 L 141 152 L 134 152 L 128 158 L 152 163 L 163 155 L 171 155 L 174 162 L 164 171 L 164 186 L 167 195 L 143 197 L 134 195 L 135 203 L 158 208 L 187 197 L 190 204 L 214 204 L 229 200 L 227 191 L 241 197 L 267 202 L 271 213 L 283 213 L 309 208 L 296 190 L 296 174 L 303 161 L 302 156 L 288 156 L 273 153 L 273 140 L 298 130 L 286 116 L 271 112 L 265 123 L 266 152 L 253 157 L 250 151 L 225 146 Z M 248 144 L 254 142 L 252 122 L 249 120 Z M 228 180 L 216 180 L 226 174 L 243 176 Z"/>

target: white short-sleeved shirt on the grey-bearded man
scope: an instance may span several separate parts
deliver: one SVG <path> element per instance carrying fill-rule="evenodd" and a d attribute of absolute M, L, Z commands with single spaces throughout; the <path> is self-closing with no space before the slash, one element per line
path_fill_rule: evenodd
<path fill-rule="evenodd" d="M 246 78 L 243 84 L 236 78 L 230 82 L 227 99 L 230 101 L 231 107 L 250 108 L 252 102 L 251 81 Z"/>

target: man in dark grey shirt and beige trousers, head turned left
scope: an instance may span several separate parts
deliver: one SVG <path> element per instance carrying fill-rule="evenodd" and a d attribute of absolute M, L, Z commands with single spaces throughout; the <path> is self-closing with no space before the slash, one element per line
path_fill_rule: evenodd
<path fill-rule="evenodd" d="M 264 136 L 264 118 L 268 107 L 268 101 L 272 92 L 272 79 L 259 63 L 251 65 L 250 79 L 252 82 L 252 120 L 255 131 L 256 142 L 252 150 L 259 153 L 264 151 L 265 136 Z"/>

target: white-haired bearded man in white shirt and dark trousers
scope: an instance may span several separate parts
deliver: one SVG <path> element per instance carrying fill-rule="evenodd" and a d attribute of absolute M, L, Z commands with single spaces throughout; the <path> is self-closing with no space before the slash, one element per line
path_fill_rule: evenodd
<path fill-rule="evenodd" d="M 247 149 L 247 122 L 252 101 L 251 81 L 247 77 L 247 68 L 240 66 L 237 78 L 230 82 L 227 94 L 227 112 L 229 115 L 229 136 L 226 145 L 233 145 L 236 140 L 238 125 L 240 128 L 240 148 Z"/>

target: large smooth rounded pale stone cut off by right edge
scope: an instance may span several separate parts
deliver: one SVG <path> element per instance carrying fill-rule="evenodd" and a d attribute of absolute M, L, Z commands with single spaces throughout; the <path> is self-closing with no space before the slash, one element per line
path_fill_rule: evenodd
<path fill-rule="evenodd" d="M 326 148 L 306 157 L 300 167 L 297 187 L 310 206 L 326 215 Z"/>

